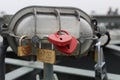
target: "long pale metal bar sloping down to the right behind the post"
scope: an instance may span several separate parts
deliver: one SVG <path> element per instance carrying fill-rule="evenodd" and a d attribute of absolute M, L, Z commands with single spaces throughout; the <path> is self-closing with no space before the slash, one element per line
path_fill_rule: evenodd
<path fill-rule="evenodd" d="M 5 62 L 7 64 L 43 69 L 43 63 L 41 62 L 30 63 L 29 61 L 23 61 L 23 60 L 11 59 L 11 58 L 6 58 Z M 53 68 L 55 72 L 78 75 L 78 76 L 95 77 L 94 76 L 95 73 L 92 70 L 77 69 L 77 68 L 64 67 L 58 65 L 54 65 Z M 120 80 L 119 74 L 108 73 L 107 75 L 110 80 Z"/>

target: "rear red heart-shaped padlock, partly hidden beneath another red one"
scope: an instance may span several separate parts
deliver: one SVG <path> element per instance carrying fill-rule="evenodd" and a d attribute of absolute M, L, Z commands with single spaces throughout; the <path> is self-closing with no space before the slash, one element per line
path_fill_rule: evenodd
<path fill-rule="evenodd" d="M 66 45 L 66 46 L 57 46 L 57 45 L 55 45 L 55 47 L 56 47 L 56 49 L 58 49 L 59 51 L 65 53 L 65 54 L 72 54 L 73 51 L 77 47 L 77 39 L 72 36 L 72 41 L 71 41 L 71 43 L 69 45 Z"/>

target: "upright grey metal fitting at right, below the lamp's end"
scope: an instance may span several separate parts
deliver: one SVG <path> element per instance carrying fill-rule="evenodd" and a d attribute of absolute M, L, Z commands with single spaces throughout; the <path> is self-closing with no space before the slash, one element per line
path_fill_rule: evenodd
<path fill-rule="evenodd" d="M 106 63 L 104 61 L 103 50 L 101 42 L 96 43 L 96 50 L 98 54 L 97 64 L 95 65 L 95 80 L 108 80 Z"/>

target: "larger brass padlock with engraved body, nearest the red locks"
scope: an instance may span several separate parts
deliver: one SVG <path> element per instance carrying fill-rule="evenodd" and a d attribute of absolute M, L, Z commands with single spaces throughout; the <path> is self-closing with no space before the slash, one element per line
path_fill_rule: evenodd
<path fill-rule="evenodd" d="M 42 44 L 40 42 L 39 48 L 37 50 L 37 61 L 41 61 L 44 63 L 54 64 L 56 60 L 55 51 L 53 50 L 53 44 L 52 49 L 42 49 Z"/>

